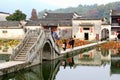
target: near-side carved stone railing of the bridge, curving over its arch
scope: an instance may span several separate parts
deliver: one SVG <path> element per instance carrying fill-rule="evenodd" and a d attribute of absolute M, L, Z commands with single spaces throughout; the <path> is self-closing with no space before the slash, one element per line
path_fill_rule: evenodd
<path fill-rule="evenodd" d="M 42 30 L 41 29 L 41 33 L 39 34 L 37 41 L 34 43 L 34 45 L 31 47 L 31 49 L 27 53 L 27 57 L 26 57 L 27 62 L 32 63 L 35 60 L 35 58 L 37 58 L 38 56 L 43 54 L 43 52 L 40 54 L 40 51 L 45 46 L 45 43 L 47 42 L 47 40 L 49 40 L 50 45 L 52 45 L 51 49 L 54 49 L 55 53 L 56 52 L 60 53 L 59 46 L 56 44 L 56 42 L 51 34 L 51 30 L 46 30 L 46 29 Z M 37 54 L 39 54 L 39 55 L 37 56 Z M 54 54 L 54 53 L 52 53 L 52 54 Z M 42 56 L 40 56 L 40 59 L 42 59 Z"/>

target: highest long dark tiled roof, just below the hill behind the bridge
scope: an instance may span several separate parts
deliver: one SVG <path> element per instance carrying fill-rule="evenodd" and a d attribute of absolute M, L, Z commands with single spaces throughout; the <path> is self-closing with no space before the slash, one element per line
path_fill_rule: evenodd
<path fill-rule="evenodd" d="M 48 13 L 44 14 L 45 19 L 50 20 L 71 20 L 74 16 L 74 13 Z"/>

